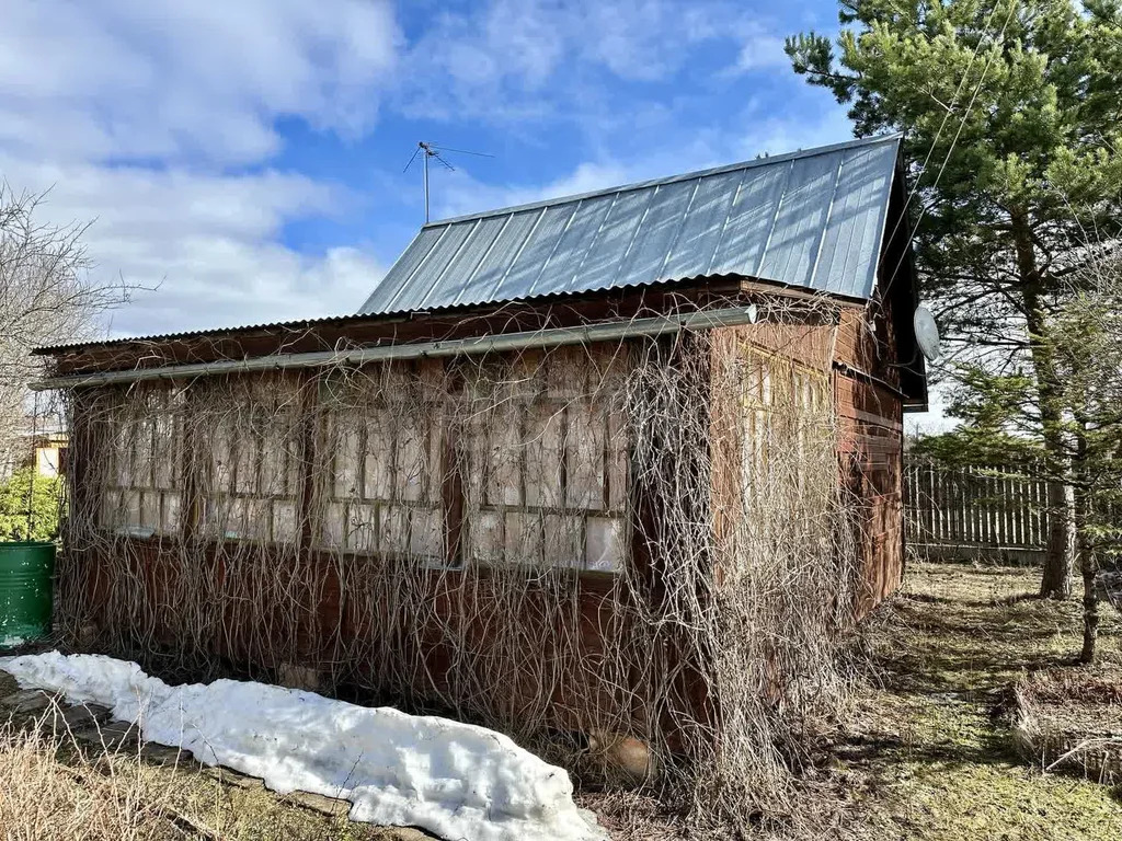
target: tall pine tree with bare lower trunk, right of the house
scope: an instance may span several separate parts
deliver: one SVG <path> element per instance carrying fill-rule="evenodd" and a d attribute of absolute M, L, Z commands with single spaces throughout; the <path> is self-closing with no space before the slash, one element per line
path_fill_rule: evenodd
<path fill-rule="evenodd" d="M 923 292 L 977 370 L 1024 361 L 1049 472 L 1070 469 L 1049 317 L 1120 235 L 1120 0 L 842 0 L 837 50 L 788 39 L 797 73 L 858 136 L 901 130 Z M 1069 509 L 1064 483 L 1049 506 Z M 1070 591 L 1069 519 L 1054 516 L 1041 594 Z"/>

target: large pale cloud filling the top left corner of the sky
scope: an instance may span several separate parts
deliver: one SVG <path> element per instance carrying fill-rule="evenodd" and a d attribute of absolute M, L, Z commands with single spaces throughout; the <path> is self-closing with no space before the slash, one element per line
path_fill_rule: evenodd
<path fill-rule="evenodd" d="M 83 159 L 258 160 L 295 115 L 358 131 L 399 35 L 386 2 L 9 3 L 0 142 Z"/>

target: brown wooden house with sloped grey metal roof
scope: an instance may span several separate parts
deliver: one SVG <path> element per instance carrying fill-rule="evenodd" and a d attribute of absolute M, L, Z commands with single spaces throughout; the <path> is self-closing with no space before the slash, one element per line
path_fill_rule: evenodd
<path fill-rule="evenodd" d="M 59 622 L 507 729 L 703 724 L 710 655 L 659 635 L 709 616 L 761 477 L 804 483 L 772 462 L 828 441 L 845 598 L 900 582 L 902 174 L 879 137 L 433 222 L 353 315 L 39 350 L 71 409 Z M 830 435 L 761 444 L 781 396 Z M 687 565 L 703 586 L 668 583 Z"/>

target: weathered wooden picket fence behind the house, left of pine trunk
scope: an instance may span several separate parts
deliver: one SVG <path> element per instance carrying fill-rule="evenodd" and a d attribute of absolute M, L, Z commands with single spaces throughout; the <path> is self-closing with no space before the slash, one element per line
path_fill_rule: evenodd
<path fill-rule="evenodd" d="M 920 555 L 1037 563 L 1048 539 L 1045 482 L 926 462 L 904 469 L 907 543 Z"/>

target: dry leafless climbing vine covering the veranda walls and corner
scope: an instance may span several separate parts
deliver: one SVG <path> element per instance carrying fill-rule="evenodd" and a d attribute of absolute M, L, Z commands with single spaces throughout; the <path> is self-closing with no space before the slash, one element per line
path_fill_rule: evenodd
<path fill-rule="evenodd" d="M 806 723 L 845 688 L 857 535 L 831 307 L 758 306 L 73 389 L 65 636 L 482 723 L 699 828 L 794 814 Z"/>

